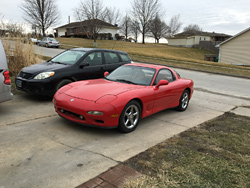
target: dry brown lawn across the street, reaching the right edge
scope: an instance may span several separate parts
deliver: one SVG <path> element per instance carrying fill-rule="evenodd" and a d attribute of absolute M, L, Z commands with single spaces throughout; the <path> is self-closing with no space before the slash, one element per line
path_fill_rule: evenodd
<path fill-rule="evenodd" d="M 93 40 L 79 38 L 58 38 L 63 48 L 92 48 Z M 163 64 L 170 67 L 187 68 L 217 74 L 250 77 L 250 67 L 204 61 L 207 50 L 173 47 L 167 44 L 140 44 L 125 41 L 98 40 L 98 48 L 128 52 L 133 61 Z"/>

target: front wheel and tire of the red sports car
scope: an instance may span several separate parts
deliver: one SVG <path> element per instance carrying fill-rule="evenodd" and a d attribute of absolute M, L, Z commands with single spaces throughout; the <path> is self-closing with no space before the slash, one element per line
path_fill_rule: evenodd
<path fill-rule="evenodd" d="M 124 107 L 119 118 L 118 130 L 123 133 L 129 133 L 136 129 L 141 118 L 141 106 L 133 100 Z"/>

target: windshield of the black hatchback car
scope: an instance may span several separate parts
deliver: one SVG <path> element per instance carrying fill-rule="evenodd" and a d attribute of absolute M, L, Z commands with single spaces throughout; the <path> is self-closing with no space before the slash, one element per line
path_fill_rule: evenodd
<path fill-rule="evenodd" d="M 86 52 L 68 50 L 51 59 L 51 62 L 73 65 L 75 64 Z"/>

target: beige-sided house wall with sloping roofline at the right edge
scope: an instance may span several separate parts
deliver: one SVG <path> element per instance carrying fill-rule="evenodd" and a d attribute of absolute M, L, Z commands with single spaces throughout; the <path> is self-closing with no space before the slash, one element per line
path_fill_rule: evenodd
<path fill-rule="evenodd" d="M 220 43 L 219 62 L 250 65 L 250 27 Z"/>

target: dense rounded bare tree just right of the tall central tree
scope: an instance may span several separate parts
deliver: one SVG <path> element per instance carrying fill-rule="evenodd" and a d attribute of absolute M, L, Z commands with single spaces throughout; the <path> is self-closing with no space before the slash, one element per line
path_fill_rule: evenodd
<path fill-rule="evenodd" d="M 155 18 L 150 21 L 149 29 L 151 32 L 149 36 L 155 39 L 155 43 L 159 43 L 159 40 L 166 35 L 168 26 L 157 14 Z"/>

